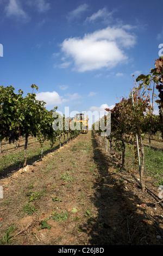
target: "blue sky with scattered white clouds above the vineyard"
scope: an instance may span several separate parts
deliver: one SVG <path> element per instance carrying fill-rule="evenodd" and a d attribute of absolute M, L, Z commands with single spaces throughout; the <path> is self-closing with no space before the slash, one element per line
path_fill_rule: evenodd
<path fill-rule="evenodd" d="M 0 0 L 0 83 L 39 87 L 46 108 L 104 111 L 149 74 L 163 44 L 162 0 Z M 1 54 L 2 55 L 2 54 Z"/>

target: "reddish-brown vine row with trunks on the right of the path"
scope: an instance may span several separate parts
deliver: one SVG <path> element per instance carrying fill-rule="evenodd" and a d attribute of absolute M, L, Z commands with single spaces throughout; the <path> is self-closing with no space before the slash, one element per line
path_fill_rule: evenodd
<path fill-rule="evenodd" d="M 114 108 L 105 109 L 111 113 L 111 133 L 107 138 L 114 141 L 116 149 L 121 152 L 121 169 L 124 168 L 125 143 L 129 146 L 130 144 L 134 145 L 135 165 L 139 166 L 140 183 L 142 191 L 144 191 L 145 153 L 143 138 L 146 134 L 150 135 L 149 138 L 151 138 L 151 134 L 159 131 L 163 139 L 163 56 L 155 60 L 155 68 L 151 69 L 150 74 L 138 76 L 134 83 L 134 88 L 128 98 L 123 97 Z M 154 89 L 159 94 L 155 94 Z M 158 103 L 159 115 L 153 114 L 154 102 Z M 95 125 L 93 128 L 95 129 Z M 102 131 L 99 129 L 96 132 L 100 135 Z"/>

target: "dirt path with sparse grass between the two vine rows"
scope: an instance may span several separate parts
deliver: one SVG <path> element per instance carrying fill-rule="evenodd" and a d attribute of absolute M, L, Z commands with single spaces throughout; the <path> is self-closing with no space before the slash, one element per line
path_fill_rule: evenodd
<path fill-rule="evenodd" d="M 0 185 L 2 244 L 162 245 L 162 208 L 91 131 Z"/>

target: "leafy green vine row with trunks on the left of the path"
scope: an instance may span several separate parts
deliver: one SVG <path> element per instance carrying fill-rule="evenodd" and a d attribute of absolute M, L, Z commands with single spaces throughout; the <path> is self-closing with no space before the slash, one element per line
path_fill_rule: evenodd
<path fill-rule="evenodd" d="M 32 89 L 38 89 L 32 84 Z M 20 89 L 16 94 L 14 87 L 0 86 L 0 143 L 9 139 L 9 142 L 18 141 L 21 136 L 25 137 L 24 144 L 24 166 L 27 164 L 27 145 L 29 136 L 34 136 L 40 142 L 41 156 L 42 146 L 45 140 L 51 141 L 51 147 L 57 138 L 67 132 L 77 135 L 78 130 L 65 130 L 65 117 L 62 117 L 62 130 L 60 129 L 60 119 L 56 114 L 57 108 L 48 111 L 46 102 L 36 99 L 34 92 L 23 97 Z M 55 115 L 54 115 L 55 113 Z M 57 124 L 56 124 L 57 123 Z M 58 129 L 54 129 L 58 126 Z"/>

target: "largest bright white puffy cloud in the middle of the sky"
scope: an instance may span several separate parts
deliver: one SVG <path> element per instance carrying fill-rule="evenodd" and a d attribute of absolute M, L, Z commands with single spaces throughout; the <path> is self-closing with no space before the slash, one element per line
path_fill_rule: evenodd
<path fill-rule="evenodd" d="M 85 34 L 83 38 L 68 38 L 61 44 L 65 57 L 73 59 L 79 72 L 113 68 L 128 57 L 122 48 L 135 44 L 135 35 L 119 27 L 107 27 Z"/>

